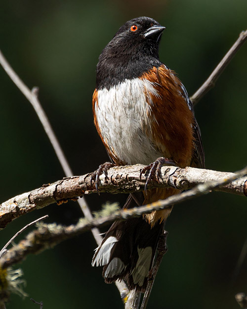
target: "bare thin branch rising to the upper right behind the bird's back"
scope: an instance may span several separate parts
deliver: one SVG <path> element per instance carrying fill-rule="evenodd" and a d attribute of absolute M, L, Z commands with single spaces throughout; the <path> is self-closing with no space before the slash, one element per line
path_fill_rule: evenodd
<path fill-rule="evenodd" d="M 206 82 L 191 96 L 191 101 L 194 105 L 201 100 L 201 98 L 206 94 L 208 90 L 214 87 L 215 82 L 219 78 L 220 74 L 225 70 L 227 65 L 230 63 L 232 58 L 235 56 L 239 48 L 247 41 L 247 30 L 242 31 L 239 35 L 238 40 L 232 45 L 232 47 L 228 50 L 226 55 L 220 61 L 220 63 L 216 66 L 213 72 L 210 74 Z"/>

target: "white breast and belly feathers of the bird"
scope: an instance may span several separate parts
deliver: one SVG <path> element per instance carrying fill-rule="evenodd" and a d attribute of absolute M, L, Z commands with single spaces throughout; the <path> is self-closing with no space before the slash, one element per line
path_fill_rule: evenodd
<path fill-rule="evenodd" d="M 151 82 L 138 78 L 98 90 L 95 114 L 101 135 L 126 164 L 147 165 L 162 156 L 148 136 L 153 103 L 148 93 L 159 96 Z"/>

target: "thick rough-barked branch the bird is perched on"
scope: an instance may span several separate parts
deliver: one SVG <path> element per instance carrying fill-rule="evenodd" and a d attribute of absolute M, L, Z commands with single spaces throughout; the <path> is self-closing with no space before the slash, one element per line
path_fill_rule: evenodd
<path fill-rule="evenodd" d="M 140 169 L 143 165 L 115 167 L 108 172 L 110 181 L 105 176 L 100 177 L 100 192 L 131 193 L 143 191 L 145 177 L 140 179 Z M 75 200 L 83 194 L 95 193 L 95 187 L 90 183 L 90 175 L 64 178 L 52 184 L 43 185 L 41 188 L 15 196 L 0 205 L 0 228 L 5 227 L 14 219 L 53 203 L 62 204 L 69 199 Z M 163 167 L 160 181 L 152 181 L 149 188 L 174 187 L 186 190 L 196 184 L 206 181 L 218 181 L 234 177 L 234 173 L 217 172 L 211 170 L 187 167 Z M 228 184 L 221 185 L 215 190 L 239 195 L 247 195 L 247 178 L 240 178 Z M 90 219 L 90 218 L 89 218 Z"/>

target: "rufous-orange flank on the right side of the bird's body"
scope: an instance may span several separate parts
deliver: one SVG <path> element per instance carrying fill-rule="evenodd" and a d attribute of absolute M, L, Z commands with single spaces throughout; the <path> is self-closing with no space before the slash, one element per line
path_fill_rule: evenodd
<path fill-rule="evenodd" d="M 151 97 L 152 141 L 179 166 L 190 165 L 193 152 L 194 113 L 182 95 L 182 83 L 165 65 L 153 67 L 141 77 L 156 89 Z M 147 90 L 148 91 L 148 90 Z"/>

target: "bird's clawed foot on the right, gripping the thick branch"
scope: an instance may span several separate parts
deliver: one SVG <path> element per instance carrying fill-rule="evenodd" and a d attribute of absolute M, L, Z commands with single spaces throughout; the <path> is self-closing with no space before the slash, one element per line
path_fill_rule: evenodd
<path fill-rule="evenodd" d="M 145 183 L 145 192 L 147 192 L 147 187 L 148 184 L 151 180 L 155 179 L 157 181 L 159 181 L 159 178 L 161 178 L 161 168 L 162 166 L 166 164 L 166 165 L 173 165 L 176 166 L 175 162 L 173 160 L 170 159 L 166 159 L 164 157 L 160 157 L 158 159 L 156 159 L 153 163 L 147 165 L 145 168 L 140 170 L 140 178 L 142 176 L 142 174 L 145 174 L 146 171 L 149 171 L 146 183 Z"/>

